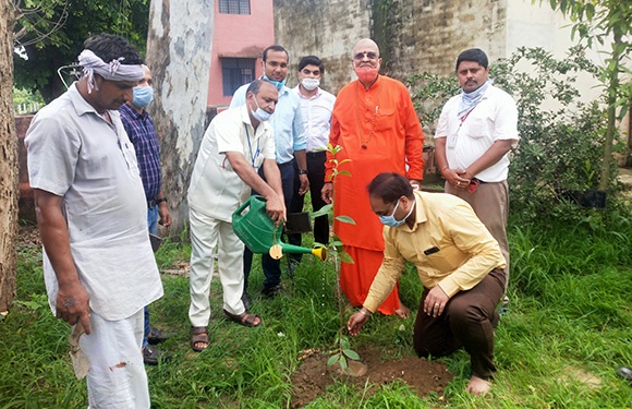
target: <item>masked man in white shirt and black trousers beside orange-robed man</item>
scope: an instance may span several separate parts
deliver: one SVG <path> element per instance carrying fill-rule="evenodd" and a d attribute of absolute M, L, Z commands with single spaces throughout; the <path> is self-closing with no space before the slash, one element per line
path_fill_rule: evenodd
<path fill-rule="evenodd" d="M 320 195 L 323 184 L 325 184 L 325 161 L 327 160 L 327 143 L 331 130 L 331 112 L 336 97 L 320 88 L 320 79 L 325 73 L 323 61 L 316 56 L 307 56 L 299 62 L 299 85 L 292 91 L 301 98 L 301 109 L 303 113 L 303 124 L 307 137 L 307 178 L 309 179 L 309 192 L 312 207 L 314 212 L 325 206 L 325 201 Z M 297 168 L 294 168 L 297 170 Z M 294 188 L 300 189 L 301 181 L 296 175 Z M 294 194 L 290 213 L 303 212 L 305 195 Z M 301 245 L 301 234 L 290 234 L 290 243 Z M 314 220 L 314 241 L 327 244 L 329 242 L 329 219 L 327 215 L 317 217 Z M 295 256 L 295 257 L 294 257 Z M 292 254 L 296 261 L 301 260 L 301 254 Z"/>

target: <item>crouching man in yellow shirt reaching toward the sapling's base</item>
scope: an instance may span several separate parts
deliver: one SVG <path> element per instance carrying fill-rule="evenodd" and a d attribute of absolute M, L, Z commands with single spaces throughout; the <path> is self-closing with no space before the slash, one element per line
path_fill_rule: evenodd
<path fill-rule="evenodd" d="M 413 340 L 420 357 L 443 357 L 463 347 L 471 357 L 466 392 L 484 395 L 496 372 L 496 306 L 505 291 L 498 242 L 463 200 L 413 191 L 399 173 L 380 173 L 367 187 L 386 249 L 362 309 L 347 324 L 357 335 L 394 288 L 406 262 L 424 285 Z"/>

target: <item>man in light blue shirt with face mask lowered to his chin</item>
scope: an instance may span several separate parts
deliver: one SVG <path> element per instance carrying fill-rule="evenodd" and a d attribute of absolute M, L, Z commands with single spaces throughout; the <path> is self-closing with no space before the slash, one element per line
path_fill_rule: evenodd
<path fill-rule="evenodd" d="M 279 91 L 279 103 L 275 115 L 270 118 L 270 124 L 275 131 L 277 165 L 281 172 L 283 184 L 283 196 L 285 207 L 290 207 L 294 194 L 305 194 L 309 189 L 307 179 L 307 163 L 305 158 L 305 130 L 301 116 L 301 101 L 292 89 L 285 86 L 288 75 L 288 51 L 278 45 L 270 46 L 264 50 L 264 80 L 271 82 Z M 239 107 L 245 103 L 245 95 L 248 84 L 242 85 L 235 91 L 230 107 Z M 301 187 L 294 191 L 294 161 L 299 167 L 299 178 Z M 260 173 L 259 173 L 260 175 Z M 244 302 L 250 305 L 251 301 L 246 293 L 247 280 L 251 272 L 253 253 L 244 251 Z M 268 254 L 262 254 L 262 267 L 266 279 L 264 280 L 263 293 L 275 297 L 281 291 L 281 263 L 274 260 Z"/>

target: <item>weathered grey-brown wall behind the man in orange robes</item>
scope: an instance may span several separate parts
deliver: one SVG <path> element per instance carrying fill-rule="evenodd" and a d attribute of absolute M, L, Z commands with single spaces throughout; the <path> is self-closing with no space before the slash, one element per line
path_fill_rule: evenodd
<path fill-rule="evenodd" d="M 308 53 L 324 59 L 324 87 L 336 93 L 354 79 L 351 49 L 364 37 L 377 39 L 382 71 L 400 81 L 423 71 L 449 75 L 473 46 L 505 57 L 506 13 L 507 0 L 275 0 L 275 28 L 294 65 Z"/>

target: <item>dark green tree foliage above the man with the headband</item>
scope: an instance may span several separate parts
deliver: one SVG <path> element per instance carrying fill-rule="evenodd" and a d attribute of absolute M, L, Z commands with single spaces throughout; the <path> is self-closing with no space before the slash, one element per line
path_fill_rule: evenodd
<path fill-rule="evenodd" d="M 119 34 L 145 50 L 147 0 L 13 0 L 13 8 L 17 50 L 13 53 L 14 84 L 39 91 L 47 103 L 65 91 L 58 69 L 76 61 L 83 41 L 90 35 Z"/>

